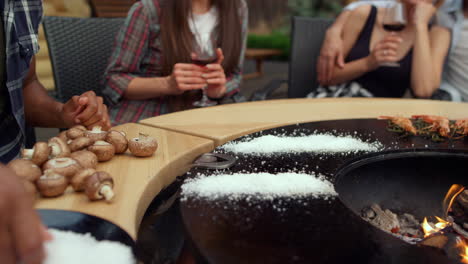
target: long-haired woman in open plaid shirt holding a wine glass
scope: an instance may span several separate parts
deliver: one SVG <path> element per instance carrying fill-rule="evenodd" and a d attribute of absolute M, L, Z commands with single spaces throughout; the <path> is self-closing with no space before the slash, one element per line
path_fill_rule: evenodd
<path fill-rule="evenodd" d="M 202 89 L 214 100 L 239 92 L 247 37 L 244 0 L 143 0 L 117 36 L 104 96 L 114 125 L 192 108 Z M 194 63 L 198 47 L 216 61 Z M 198 97 L 198 98 L 197 98 Z"/>

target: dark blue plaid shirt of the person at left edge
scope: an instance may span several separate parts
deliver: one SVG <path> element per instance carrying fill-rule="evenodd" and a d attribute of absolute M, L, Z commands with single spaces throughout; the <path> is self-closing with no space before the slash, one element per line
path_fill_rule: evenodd
<path fill-rule="evenodd" d="M 42 18 L 41 0 L 3 0 L 1 19 L 6 49 L 6 89 L 0 96 L 7 97 L 5 111 L 0 119 L 0 161 L 15 158 L 24 144 L 25 117 L 23 81 L 29 71 L 32 57 L 39 51 L 37 32 Z M 3 63 L 3 62 L 2 62 Z M 5 89 L 1 87 L 0 91 Z"/>

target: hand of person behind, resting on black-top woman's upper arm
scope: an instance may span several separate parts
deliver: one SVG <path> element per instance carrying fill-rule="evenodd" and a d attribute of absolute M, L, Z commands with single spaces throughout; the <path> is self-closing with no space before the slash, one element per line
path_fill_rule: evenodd
<path fill-rule="evenodd" d="M 344 67 L 343 40 L 340 32 L 330 29 L 325 35 L 317 62 L 317 79 L 321 85 L 328 85 L 335 66 Z"/>

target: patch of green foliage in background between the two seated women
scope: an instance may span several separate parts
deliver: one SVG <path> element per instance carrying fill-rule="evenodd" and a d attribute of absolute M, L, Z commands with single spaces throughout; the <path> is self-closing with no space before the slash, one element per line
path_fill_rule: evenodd
<path fill-rule="evenodd" d="M 247 37 L 247 47 L 253 49 L 280 49 L 283 51 L 282 56 L 274 59 L 287 60 L 289 57 L 289 50 L 291 39 L 289 35 L 274 32 L 270 35 L 255 35 L 249 34 Z"/>

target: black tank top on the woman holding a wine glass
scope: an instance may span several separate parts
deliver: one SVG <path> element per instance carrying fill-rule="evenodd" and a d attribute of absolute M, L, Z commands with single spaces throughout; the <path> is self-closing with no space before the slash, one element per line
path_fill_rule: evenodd
<path fill-rule="evenodd" d="M 346 61 L 354 61 L 370 54 L 370 42 L 374 24 L 377 19 L 377 8 L 372 6 L 366 24 L 348 54 Z M 366 88 L 375 97 L 403 97 L 406 89 L 411 87 L 411 64 L 413 49 L 399 61 L 400 67 L 381 66 L 354 80 Z"/>

